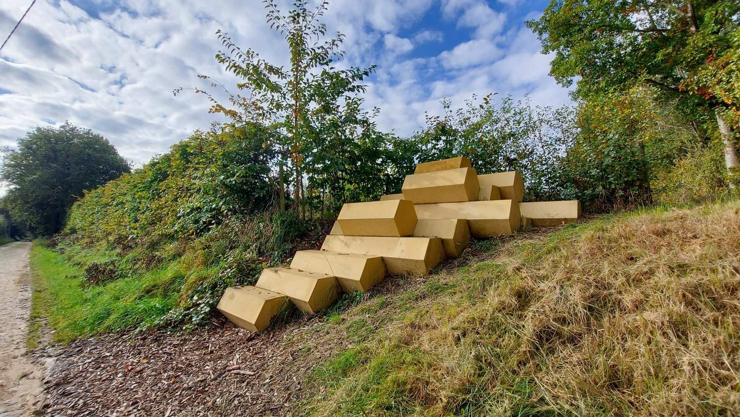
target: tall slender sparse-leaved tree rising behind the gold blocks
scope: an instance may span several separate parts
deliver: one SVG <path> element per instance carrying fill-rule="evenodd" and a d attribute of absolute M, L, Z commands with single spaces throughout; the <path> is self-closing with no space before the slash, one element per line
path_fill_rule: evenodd
<path fill-rule="evenodd" d="M 227 33 L 218 30 L 218 38 L 226 49 L 219 51 L 216 59 L 243 82 L 237 84 L 237 93 L 230 93 L 221 82 L 200 76 L 212 81 L 212 87 L 223 88 L 229 96 L 229 105 L 221 104 L 204 90 L 195 89 L 195 92 L 209 97 L 212 113 L 223 113 L 237 125 L 256 122 L 280 132 L 274 145 L 279 148 L 280 163 L 292 166 L 295 210 L 300 214 L 303 209 L 305 215 L 303 165 L 307 153 L 313 151 L 306 149 L 307 145 L 320 132 L 326 133 L 320 121 L 326 121 L 327 115 L 343 121 L 363 116 L 360 107 L 341 104 L 356 103 L 356 95 L 365 91 L 365 86 L 359 83 L 374 71 L 374 66 L 344 70 L 332 66 L 344 56 L 341 50 L 344 36 L 341 33 L 326 36 L 326 24 L 320 18 L 329 6 L 328 1 L 309 8 L 309 1 L 297 0 L 288 13 L 283 13 L 275 0 L 263 3 L 267 23 L 284 36 L 289 67 L 265 61 L 252 48 L 238 47 Z"/>

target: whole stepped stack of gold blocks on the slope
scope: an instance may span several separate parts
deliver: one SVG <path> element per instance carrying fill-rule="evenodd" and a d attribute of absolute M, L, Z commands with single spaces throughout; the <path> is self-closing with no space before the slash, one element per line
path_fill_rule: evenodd
<path fill-rule="evenodd" d="M 418 164 L 401 193 L 344 204 L 321 250 L 300 250 L 290 267 L 263 270 L 255 287 L 226 290 L 218 310 L 263 331 L 288 301 L 304 313 L 329 307 L 340 292 L 366 292 L 386 277 L 428 275 L 462 254 L 472 237 L 576 221 L 579 201 L 522 203 L 518 171 L 477 175 L 465 157 Z"/>

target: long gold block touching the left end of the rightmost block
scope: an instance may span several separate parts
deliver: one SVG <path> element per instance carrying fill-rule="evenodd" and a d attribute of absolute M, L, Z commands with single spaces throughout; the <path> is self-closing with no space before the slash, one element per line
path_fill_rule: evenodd
<path fill-rule="evenodd" d="M 465 218 L 470 234 L 476 237 L 511 235 L 522 225 L 519 203 L 514 200 L 417 204 L 414 208 L 420 220 Z"/>

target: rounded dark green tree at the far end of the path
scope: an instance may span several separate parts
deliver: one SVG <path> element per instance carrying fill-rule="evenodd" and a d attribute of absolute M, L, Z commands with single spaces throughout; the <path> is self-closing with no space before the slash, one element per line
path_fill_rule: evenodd
<path fill-rule="evenodd" d="M 10 185 L 10 214 L 36 233 L 61 229 L 64 216 L 84 190 L 129 172 L 127 162 L 107 139 L 69 122 L 36 127 L 7 150 L 0 179 Z"/>

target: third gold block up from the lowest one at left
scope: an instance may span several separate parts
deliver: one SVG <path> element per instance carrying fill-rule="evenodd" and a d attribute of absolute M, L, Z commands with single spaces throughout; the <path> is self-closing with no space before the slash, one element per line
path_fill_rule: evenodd
<path fill-rule="evenodd" d="M 342 290 L 363 293 L 386 276 L 386 264 L 382 256 L 338 253 L 326 250 L 299 250 L 290 267 L 312 273 L 325 273 L 337 277 Z"/>

